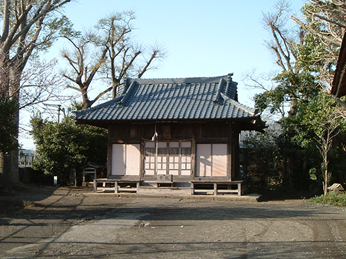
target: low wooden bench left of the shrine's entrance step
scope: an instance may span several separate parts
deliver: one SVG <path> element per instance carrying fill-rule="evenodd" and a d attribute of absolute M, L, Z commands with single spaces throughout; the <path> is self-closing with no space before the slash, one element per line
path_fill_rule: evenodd
<path fill-rule="evenodd" d="M 98 186 L 98 183 L 102 183 L 102 186 Z M 129 184 L 129 185 L 136 184 L 136 187 L 135 188 L 123 188 L 120 186 L 123 184 Z M 136 192 L 136 193 L 138 193 L 139 184 L 140 184 L 140 180 L 137 180 L 137 179 L 115 180 L 115 179 L 99 178 L 99 179 L 93 180 L 93 192 L 97 193 L 98 190 L 100 190 L 100 191 L 113 191 L 114 193 L 120 193 L 120 192 Z"/>

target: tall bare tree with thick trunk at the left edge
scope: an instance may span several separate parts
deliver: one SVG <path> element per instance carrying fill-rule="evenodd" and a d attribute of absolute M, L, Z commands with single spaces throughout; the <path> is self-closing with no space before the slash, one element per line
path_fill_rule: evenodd
<path fill-rule="evenodd" d="M 1 143 L 10 143 L 8 148 L 0 151 L 0 180 L 1 186 L 10 188 L 10 184 L 19 183 L 18 173 L 18 131 L 19 131 L 19 108 L 29 104 L 35 104 L 41 99 L 40 94 L 44 93 L 43 82 L 36 82 L 36 79 L 44 79 L 43 73 L 33 76 L 39 65 L 37 58 L 40 50 L 46 50 L 53 44 L 59 36 L 61 30 L 68 30 L 69 24 L 61 17 L 57 10 L 62 8 L 71 0 L 53 1 L 11 1 L 0 2 L 2 30 L 0 35 L 0 68 L 1 68 L 1 102 L 9 102 L 9 106 L 15 106 L 7 111 L 1 111 L 1 115 L 8 115 L 5 125 L 0 127 L 12 128 L 15 126 L 15 134 L 12 129 L 6 139 L 1 139 Z M 38 62 L 38 64 L 34 64 Z M 28 77 L 26 77 L 26 75 Z M 26 78 L 25 78 L 26 77 Z M 48 76 L 49 78 L 49 76 Z M 25 81 L 30 81 L 26 85 Z M 53 86 L 49 85 L 49 90 Z M 30 89 L 29 89 L 30 88 Z M 7 104 L 1 107 L 8 107 Z M 10 122 L 9 122 L 10 121 Z M 7 124 L 9 122 L 9 124 Z M 16 148 L 14 148 L 16 147 Z M 11 149 L 5 153 L 4 151 Z"/>

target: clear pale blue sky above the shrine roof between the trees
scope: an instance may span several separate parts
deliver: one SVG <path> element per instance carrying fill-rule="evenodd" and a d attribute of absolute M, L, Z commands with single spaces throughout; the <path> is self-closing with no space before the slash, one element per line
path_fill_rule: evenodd
<path fill-rule="evenodd" d="M 298 11 L 304 0 L 293 0 Z M 133 10 L 135 34 L 143 44 L 158 42 L 168 55 L 160 69 L 145 78 L 212 77 L 234 73 L 239 102 L 253 106 L 251 93 L 242 79 L 256 69 L 265 73 L 275 69 L 264 40 L 268 32 L 262 25 L 262 13 L 269 12 L 275 0 L 80 0 L 69 3 L 65 15 L 75 28 L 91 28 L 113 12 Z M 56 48 L 57 47 L 57 48 Z M 55 46 L 50 56 L 58 57 Z M 63 66 L 63 64 L 62 64 Z M 24 148 L 33 148 L 31 140 L 21 137 Z"/>

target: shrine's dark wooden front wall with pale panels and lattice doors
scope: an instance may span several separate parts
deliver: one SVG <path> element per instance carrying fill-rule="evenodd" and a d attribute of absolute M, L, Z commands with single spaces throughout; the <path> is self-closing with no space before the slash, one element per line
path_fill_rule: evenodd
<path fill-rule="evenodd" d="M 150 182 L 157 175 L 172 175 L 173 182 L 240 180 L 239 133 L 233 122 L 113 123 L 107 175 Z"/>

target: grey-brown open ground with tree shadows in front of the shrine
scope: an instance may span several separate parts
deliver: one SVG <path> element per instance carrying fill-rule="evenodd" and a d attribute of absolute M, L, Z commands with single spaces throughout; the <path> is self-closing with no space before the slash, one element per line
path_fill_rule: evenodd
<path fill-rule="evenodd" d="M 346 258 L 345 209 L 304 200 L 44 187 L 2 195 L 0 206 L 0 258 Z"/>

